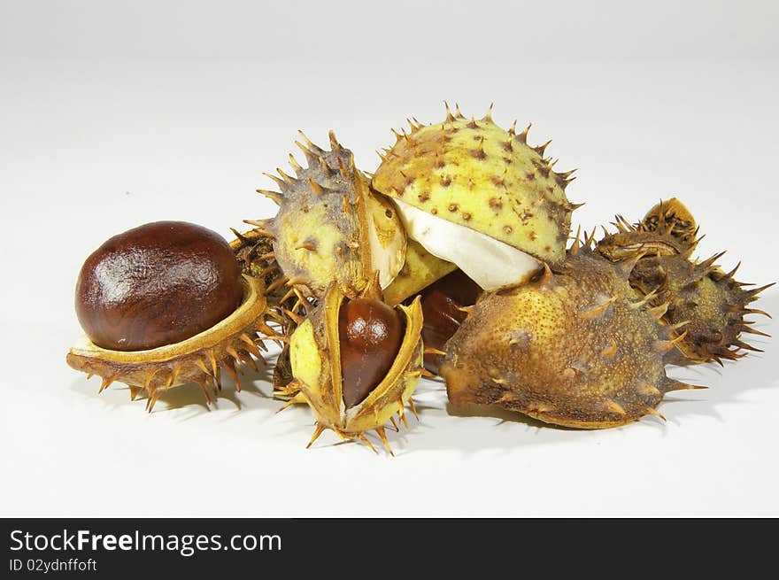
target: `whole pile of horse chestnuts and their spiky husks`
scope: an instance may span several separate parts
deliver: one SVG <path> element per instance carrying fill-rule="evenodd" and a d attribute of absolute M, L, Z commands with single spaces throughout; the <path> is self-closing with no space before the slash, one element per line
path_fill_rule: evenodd
<path fill-rule="evenodd" d="M 676 198 L 600 239 L 571 236 L 574 172 L 528 129 L 447 105 L 442 122 L 396 133 L 371 177 L 333 132 L 329 149 L 301 133 L 304 164 L 290 155 L 292 174 L 258 189 L 278 213 L 229 244 L 158 221 L 93 252 L 68 364 L 101 391 L 126 383 L 148 410 L 187 383 L 211 404 L 223 373 L 240 390 L 273 342 L 274 397 L 311 408 L 309 445 L 331 429 L 391 453 L 385 428 L 416 414 L 422 376 L 440 376 L 453 406 L 601 429 L 662 417 L 665 393 L 698 388 L 667 364 L 758 350 L 742 335 L 767 335 L 744 318 L 767 314 L 751 303 L 770 284 L 698 259 L 702 233 Z"/>

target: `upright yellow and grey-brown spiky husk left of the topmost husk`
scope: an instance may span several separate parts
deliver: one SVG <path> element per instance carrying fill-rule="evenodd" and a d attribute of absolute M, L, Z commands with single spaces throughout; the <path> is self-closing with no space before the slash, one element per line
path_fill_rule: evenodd
<path fill-rule="evenodd" d="M 405 232 L 395 208 L 374 194 L 332 131 L 331 151 L 303 137 L 305 144 L 296 143 L 308 166 L 290 155 L 296 176 L 278 169 L 279 176 L 267 176 L 280 191 L 258 189 L 279 212 L 270 220 L 247 222 L 272 238 L 287 283 L 306 297 L 321 298 L 334 281 L 347 296 L 356 296 L 375 270 L 382 272 L 386 287 L 405 259 Z"/>

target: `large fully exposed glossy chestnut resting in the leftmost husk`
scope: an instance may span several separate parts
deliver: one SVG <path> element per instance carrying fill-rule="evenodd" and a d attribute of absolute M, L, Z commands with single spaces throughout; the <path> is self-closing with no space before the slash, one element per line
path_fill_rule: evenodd
<path fill-rule="evenodd" d="M 75 306 L 94 344 L 142 351 L 210 329 L 242 296 L 241 269 L 224 238 L 184 221 L 156 221 L 89 256 Z"/>

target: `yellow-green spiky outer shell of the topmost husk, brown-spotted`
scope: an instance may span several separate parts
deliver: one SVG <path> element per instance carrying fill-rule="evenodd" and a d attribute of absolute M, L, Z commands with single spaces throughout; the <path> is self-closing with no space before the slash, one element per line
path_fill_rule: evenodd
<path fill-rule="evenodd" d="M 490 112 L 467 120 L 449 112 L 443 123 L 411 124 L 397 134 L 373 177 L 373 186 L 428 213 L 559 262 L 571 222 L 565 194 L 570 174 L 552 170 L 548 143 L 530 147 L 528 129 L 499 128 Z"/>

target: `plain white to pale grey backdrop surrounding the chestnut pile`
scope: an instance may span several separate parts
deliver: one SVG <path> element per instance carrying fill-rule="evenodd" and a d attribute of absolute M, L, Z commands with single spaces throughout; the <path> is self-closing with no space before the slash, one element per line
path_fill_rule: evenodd
<path fill-rule="evenodd" d="M 263 5 L 265 4 L 265 5 Z M 282 5 L 283 4 L 283 5 Z M 373 171 L 406 117 L 444 99 L 553 137 L 575 224 L 678 196 L 702 257 L 776 267 L 775 2 L 0 2 L 0 515 L 779 515 L 775 341 L 621 429 L 449 414 L 440 383 L 397 457 L 305 450 L 307 408 L 266 375 L 207 411 L 153 414 L 66 366 L 82 261 L 116 233 L 189 220 L 229 237 L 302 128 Z M 779 313 L 779 293 L 757 304 Z M 758 328 L 776 334 L 775 322 Z"/>

